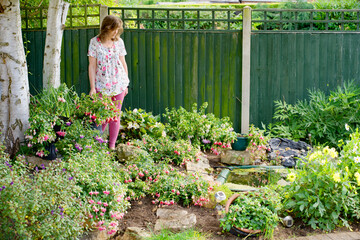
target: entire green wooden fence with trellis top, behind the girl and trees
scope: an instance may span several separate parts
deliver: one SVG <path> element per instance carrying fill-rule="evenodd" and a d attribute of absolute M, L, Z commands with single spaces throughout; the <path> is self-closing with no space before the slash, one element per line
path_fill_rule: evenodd
<path fill-rule="evenodd" d="M 209 112 L 230 116 L 239 131 L 242 14 L 235 10 L 109 8 L 126 26 L 131 84 L 124 106 L 161 114 L 166 107 L 190 109 L 207 101 Z M 252 18 L 250 123 L 271 122 L 274 100 L 295 103 L 307 98 L 308 89 L 328 92 L 351 79 L 360 83 L 360 10 L 265 9 L 253 11 Z M 98 26 L 74 26 L 69 22 L 64 32 L 61 77 L 79 93 L 88 92 L 86 54 Z M 35 94 L 42 88 L 44 30 L 28 28 L 24 39 L 30 41 Z"/>

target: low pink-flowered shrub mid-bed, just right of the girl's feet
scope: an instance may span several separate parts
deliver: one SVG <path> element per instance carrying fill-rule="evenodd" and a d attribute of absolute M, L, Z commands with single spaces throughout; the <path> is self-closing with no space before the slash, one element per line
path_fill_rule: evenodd
<path fill-rule="evenodd" d="M 142 140 L 132 141 L 129 144 L 139 146 L 147 151 L 155 162 L 165 161 L 176 165 L 184 165 L 186 161 L 199 160 L 200 149 L 193 147 L 189 141 L 173 141 L 169 137 L 153 139 L 144 135 Z"/>

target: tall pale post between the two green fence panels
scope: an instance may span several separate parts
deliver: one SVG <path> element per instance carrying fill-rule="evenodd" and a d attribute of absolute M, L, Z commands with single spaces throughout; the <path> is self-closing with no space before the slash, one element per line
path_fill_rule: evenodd
<path fill-rule="evenodd" d="M 250 53 L 251 7 L 243 8 L 241 133 L 249 133 L 250 125 Z"/>

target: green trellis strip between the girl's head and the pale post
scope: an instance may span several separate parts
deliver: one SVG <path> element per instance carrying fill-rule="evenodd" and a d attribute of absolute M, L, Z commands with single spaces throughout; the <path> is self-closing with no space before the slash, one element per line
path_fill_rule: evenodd
<path fill-rule="evenodd" d="M 109 7 L 110 15 L 119 16 L 125 29 L 213 30 L 242 29 L 242 10 L 216 8 L 124 8 Z"/>

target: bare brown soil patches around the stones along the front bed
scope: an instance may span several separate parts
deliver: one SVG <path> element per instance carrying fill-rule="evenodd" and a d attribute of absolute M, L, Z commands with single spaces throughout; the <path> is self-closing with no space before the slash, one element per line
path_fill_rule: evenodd
<path fill-rule="evenodd" d="M 209 163 L 211 167 L 214 167 L 217 171 L 217 167 L 222 166 L 218 156 L 210 156 L 207 154 Z M 183 169 L 178 169 L 183 170 Z M 216 171 L 215 171 L 216 172 Z M 125 214 L 124 219 L 119 223 L 119 231 L 112 237 L 112 239 L 122 236 L 127 227 L 139 227 L 147 229 L 149 232 L 153 232 L 155 222 L 157 220 L 156 210 L 157 205 L 152 204 L 153 199 L 150 197 L 145 197 L 137 201 L 131 202 L 131 208 L 128 209 L 127 214 Z M 239 240 L 240 237 L 236 237 L 230 233 L 222 232 L 220 228 L 220 216 L 218 216 L 215 209 L 207 209 L 204 207 L 191 206 L 191 207 L 181 207 L 178 205 L 164 206 L 168 209 L 181 209 L 186 210 L 188 213 L 193 213 L 196 215 L 196 230 L 206 233 L 208 239 L 210 240 Z M 338 228 L 335 232 L 349 231 L 346 228 Z M 360 223 L 353 224 L 353 231 L 360 231 Z M 291 228 L 285 228 L 281 223 L 278 224 L 278 227 L 274 231 L 275 240 L 285 240 L 295 237 L 303 237 L 308 235 L 324 234 L 320 230 L 313 230 L 311 227 L 306 226 L 301 221 L 295 221 L 295 224 Z M 261 240 L 260 237 L 250 237 L 249 240 Z"/>

